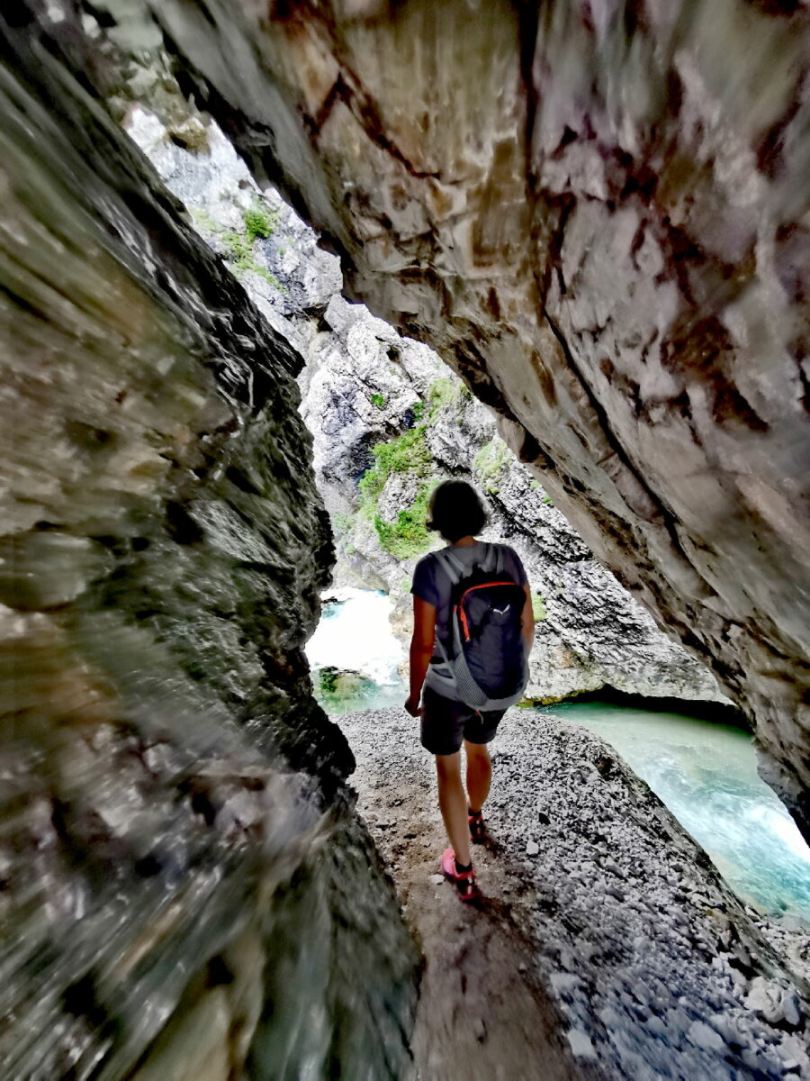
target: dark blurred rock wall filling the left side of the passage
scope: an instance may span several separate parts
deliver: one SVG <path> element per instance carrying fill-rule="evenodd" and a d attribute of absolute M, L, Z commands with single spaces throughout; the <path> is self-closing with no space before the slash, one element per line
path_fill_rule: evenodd
<path fill-rule="evenodd" d="M 416 951 L 302 654 L 302 358 L 72 10 L 14 5 L 0 55 L 0 1073 L 399 1076 Z"/>

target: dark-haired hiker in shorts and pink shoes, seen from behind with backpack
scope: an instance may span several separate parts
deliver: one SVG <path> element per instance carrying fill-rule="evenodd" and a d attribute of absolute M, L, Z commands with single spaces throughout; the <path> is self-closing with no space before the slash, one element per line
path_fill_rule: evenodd
<path fill-rule="evenodd" d="M 470 841 L 480 843 L 485 836 L 482 808 L 492 777 L 487 744 L 507 708 L 523 695 L 535 632 L 531 592 L 517 553 L 475 538 L 486 521 L 472 485 L 440 484 L 428 529 L 447 547 L 419 560 L 410 587 L 414 635 L 405 709 L 421 718 L 422 746 L 436 757 L 438 805 L 451 845 L 442 855 L 442 872 L 462 900 L 478 896 Z"/>

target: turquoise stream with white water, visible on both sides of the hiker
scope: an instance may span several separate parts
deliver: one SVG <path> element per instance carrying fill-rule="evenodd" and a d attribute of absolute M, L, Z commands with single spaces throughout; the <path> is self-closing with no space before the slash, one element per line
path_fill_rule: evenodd
<path fill-rule="evenodd" d="M 359 589 L 332 596 L 307 651 L 321 704 L 332 713 L 399 705 L 406 694 L 399 670 L 405 655 L 391 630 L 389 599 Z M 810 920 L 810 849 L 760 780 L 750 735 L 728 724 L 605 703 L 541 711 L 612 744 L 745 902 Z"/>

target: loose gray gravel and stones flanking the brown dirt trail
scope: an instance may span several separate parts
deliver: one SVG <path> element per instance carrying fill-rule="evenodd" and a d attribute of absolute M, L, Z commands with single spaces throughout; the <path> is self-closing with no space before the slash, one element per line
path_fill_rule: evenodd
<path fill-rule="evenodd" d="M 387 785 L 419 771 L 430 777 L 404 713 L 339 721 L 363 790 L 366 769 Z M 392 740 L 397 724 L 402 738 Z M 487 823 L 497 850 L 477 855 L 486 857 L 478 882 L 485 897 L 510 898 L 502 903 L 534 944 L 518 972 L 531 967 L 548 988 L 577 1060 L 598 1063 L 609 1081 L 810 1077 L 810 929 L 743 905 L 647 785 L 588 730 L 510 710 L 492 756 Z M 526 840 L 541 799 L 554 809 L 542 845 Z"/>

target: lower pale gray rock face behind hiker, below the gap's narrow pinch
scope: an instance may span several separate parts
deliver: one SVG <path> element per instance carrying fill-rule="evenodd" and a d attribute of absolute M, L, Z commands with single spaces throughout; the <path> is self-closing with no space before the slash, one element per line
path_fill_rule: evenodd
<path fill-rule="evenodd" d="M 652 697 L 725 700 L 710 672 L 594 560 L 514 459 L 491 412 L 435 353 L 340 297 L 329 303 L 323 323 L 334 333 L 310 341 L 302 414 L 313 432 L 319 488 L 336 524 L 338 583 L 384 583 L 396 604 L 395 627 L 409 636 L 410 576 L 437 538 L 423 534 L 423 544 L 403 545 L 389 531 L 418 501 L 426 476 L 463 477 L 486 494 L 485 537 L 516 548 L 536 596 L 528 697 L 556 702 L 608 685 Z M 408 451 L 407 440 L 422 427 Z M 357 478 L 374 464 L 372 448 L 386 442 L 404 446 L 406 461 L 368 499 Z"/>

